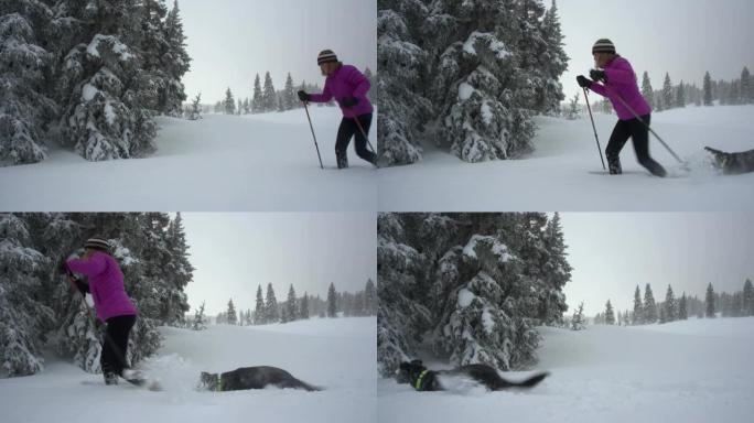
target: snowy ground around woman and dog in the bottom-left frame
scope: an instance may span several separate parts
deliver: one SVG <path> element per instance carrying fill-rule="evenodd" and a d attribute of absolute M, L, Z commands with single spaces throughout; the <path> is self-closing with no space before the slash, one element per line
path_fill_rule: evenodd
<path fill-rule="evenodd" d="M 99 375 L 47 361 L 44 372 L 0 379 L 0 420 L 49 422 L 375 422 L 374 317 L 263 327 L 162 328 L 164 347 L 144 365 L 164 391 L 105 386 Z M 326 388 L 198 392 L 201 371 L 277 366 Z M 219 417 L 219 419 L 218 419 Z"/>

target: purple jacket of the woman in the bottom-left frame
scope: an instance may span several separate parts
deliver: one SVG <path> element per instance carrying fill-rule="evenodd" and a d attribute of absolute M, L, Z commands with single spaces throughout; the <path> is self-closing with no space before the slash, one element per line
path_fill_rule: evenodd
<path fill-rule="evenodd" d="M 68 260 L 67 264 L 72 271 L 88 276 L 97 317 L 101 321 L 137 314 L 131 300 L 126 295 L 123 273 L 112 257 L 96 251 L 88 260 Z"/>

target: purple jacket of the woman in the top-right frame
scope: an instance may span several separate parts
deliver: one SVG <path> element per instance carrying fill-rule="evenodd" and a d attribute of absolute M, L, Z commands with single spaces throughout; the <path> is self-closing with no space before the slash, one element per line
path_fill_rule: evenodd
<path fill-rule="evenodd" d="M 601 96 L 610 98 L 610 102 L 613 104 L 613 108 L 615 109 L 618 119 L 631 120 L 635 118 L 634 113 L 632 113 L 618 99 L 618 96 L 623 98 L 623 101 L 628 104 L 638 116 L 651 113 L 651 108 L 638 90 L 636 74 L 628 61 L 617 56 L 605 65 L 604 70 L 605 78 L 607 79 L 605 85 L 603 86 L 594 83 L 590 89 Z"/>

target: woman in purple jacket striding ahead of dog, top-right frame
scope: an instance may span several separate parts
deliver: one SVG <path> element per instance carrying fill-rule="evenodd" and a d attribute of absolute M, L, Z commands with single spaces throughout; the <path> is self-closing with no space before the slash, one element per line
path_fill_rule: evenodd
<path fill-rule="evenodd" d="M 590 76 L 594 80 L 589 80 L 583 75 L 579 75 L 577 80 L 581 87 L 610 98 L 618 116 L 618 121 L 605 149 L 610 173 L 620 175 L 623 172 L 620 159 L 621 150 L 628 138 L 632 138 L 638 162 L 653 175 L 665 176 L 665 169 L 649 156 L 648 126 L 651 108 L 639 93 L 636 74 L 634 74 L 631 64 L 615 53 L 615 45 L 607 39 L 597 40 L 594 43 L 592 55 L 595 67 L 602 70 L 593 69 L 590 72 Z M 604 82 L 604 85 L 596 83 L 597 80 Z"/>

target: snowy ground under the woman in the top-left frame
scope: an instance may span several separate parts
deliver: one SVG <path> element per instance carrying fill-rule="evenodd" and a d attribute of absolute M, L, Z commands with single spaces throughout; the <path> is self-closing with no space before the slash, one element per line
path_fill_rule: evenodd
<path fill-rule="evenodd" d="M 377 174 L 353 142 L 351 169 L 334 169 L 340 109 L 310 107 L 310 113 L 325 171 L 303 109 L 159 118 L 158 151 L 146 159 L 91 163 L 55 149 L 42 163 L 0 167 L 0 209 L 374 212 Z"/>

